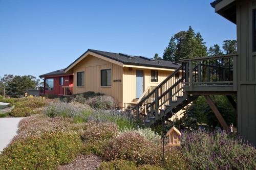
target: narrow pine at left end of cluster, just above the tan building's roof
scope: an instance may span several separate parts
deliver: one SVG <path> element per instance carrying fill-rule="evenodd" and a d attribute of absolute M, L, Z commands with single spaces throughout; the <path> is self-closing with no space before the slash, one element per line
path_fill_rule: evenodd
<path fill-rule="evenodd" d="M 164 50 L 163 59 L 168 61 L 178 62 L 176 60 L 176 52 L 177 52 L 177 45 L 174 37 L 172 37 L 170 38 L 169 45 Z"/>

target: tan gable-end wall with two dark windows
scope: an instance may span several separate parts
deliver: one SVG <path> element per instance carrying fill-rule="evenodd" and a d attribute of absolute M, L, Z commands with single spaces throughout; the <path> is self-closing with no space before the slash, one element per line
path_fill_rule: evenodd
<path fill-rule="evenodd" d="M 100 86 L 100 70 L 108 69 L 112 70 L 112 86 L 101 87 Z M 84 71 L 84 87 L 77 87 L 76 85 L 76 72 Z M 94 91 L 104 93 L 112 96 L 118 103 L 119 107 L 122 107 L 122 67 L 116 64 L 112 64 L 108 61 L 99 59 L 94 56 L 87 56 L 81 62 L 79 62 L 74 68 L 74 94 L 83 93 L 86 91 Z M 114 80 L 121 80 L 121 82 L 113 82 Z"/>

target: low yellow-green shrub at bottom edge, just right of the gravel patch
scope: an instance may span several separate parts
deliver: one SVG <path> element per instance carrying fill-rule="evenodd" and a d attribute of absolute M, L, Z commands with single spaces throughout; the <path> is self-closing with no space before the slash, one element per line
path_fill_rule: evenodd
<path fill-rule="evenodd" d="M 135 162 L 127 160 L 113 160 L 110 162 L 102 162 L 99 167 L 99 170 L 136 170 L 137 167 Z"/>

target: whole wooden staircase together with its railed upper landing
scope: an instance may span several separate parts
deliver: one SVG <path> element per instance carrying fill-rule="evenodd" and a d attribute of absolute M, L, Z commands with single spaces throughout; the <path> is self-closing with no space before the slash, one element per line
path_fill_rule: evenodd
<path fill-rule="evenodd" d="M 161 124 L 198 98 L 199 95 L 236 91 L 236 55 L 181 60 L 182 64 L 127 109 L 144 126 Z"/>

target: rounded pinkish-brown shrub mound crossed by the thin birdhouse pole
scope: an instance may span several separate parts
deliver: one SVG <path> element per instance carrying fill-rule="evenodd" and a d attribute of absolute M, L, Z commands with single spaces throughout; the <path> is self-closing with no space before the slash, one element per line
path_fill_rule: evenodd
<path fill-rule="evenodd" d="M 124 159 L 136 164 L 162 165 L 162 146 L 145 139 L 137 132 L 121 133 L 106 145 L 103 151 L 105 160 Z M 157 158 L 157 159 L 156 159 Z M 179 148 L 165 146 L 165 168 L 187 169 L 186 158 Z"/>

